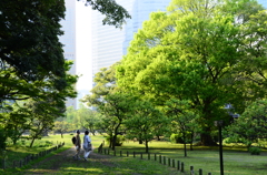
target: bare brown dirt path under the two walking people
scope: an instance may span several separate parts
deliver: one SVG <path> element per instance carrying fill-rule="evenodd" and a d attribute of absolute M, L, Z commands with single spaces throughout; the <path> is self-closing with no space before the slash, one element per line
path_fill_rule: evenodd
<path fill-rule="evenodd" d="M 57 174 L 60 167 L 66 166 L 68 164 L 77 166 L 83 166 L 85 168 L 93 163 L 101 163 L 103 166 L 113 167 L 116 166 L 111 162 L 111 156 L 97 154 L 91 152 L 88 158 L 88 162 L 83 161 L 82 158 L 77 161 L 73 159 L 76 151 L 75 147 L 66 150 L 61 153 L 52 155 L 37 164 L 34 164 L 30 169 L 23 171 L 23 175 L 40 175 L 40 174 Z M 82 157 L 83 151 L 80 153 L 80 157 Z"/>

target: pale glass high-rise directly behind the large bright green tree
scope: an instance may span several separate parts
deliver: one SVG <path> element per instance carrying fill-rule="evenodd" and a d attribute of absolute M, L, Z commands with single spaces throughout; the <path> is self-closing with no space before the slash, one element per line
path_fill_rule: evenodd
<path fill-rule="evenodd" d="M 92 76 L 101 68 L 108 68 L 121 60 L 127 52 L 134 34 L 142 27 L 142 22 L 149 19 L 152 11 L 166 11 L 171 0 L 116 0 L 131 16 L 122 29 L 111 25 L 102 25 L 103 16 L 92 11 L 91 48 L 92 48 Z"/>

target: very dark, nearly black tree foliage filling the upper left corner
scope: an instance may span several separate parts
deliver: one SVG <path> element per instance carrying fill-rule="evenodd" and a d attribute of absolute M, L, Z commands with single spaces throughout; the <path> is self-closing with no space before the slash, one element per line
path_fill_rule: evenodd
<path fill-rule="evenodd" d="M 65 75 L 58 39 L 63 34 L 59 22 L 65 18 L 65 1 L 2 0 L 0 11 L 1 71 L 14 68 L 17 75 L 28 81 Z"/>

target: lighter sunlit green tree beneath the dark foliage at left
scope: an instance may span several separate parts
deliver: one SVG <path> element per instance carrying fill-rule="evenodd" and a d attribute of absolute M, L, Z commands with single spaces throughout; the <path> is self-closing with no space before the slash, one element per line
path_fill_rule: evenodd
<path fill-rule="evenodd" d="M 69 71 L 71 62 L 66 62 L 66 72 Z M 76 83 L 77 76 L 66 74 L 67 86 L 61 91 L 55 87 L 51 80 L 43 80 L 33 83 L 31 86 L 37 91 L 36 96 L 19 95 L 26 97 L 24 101 L 9 102 L 8 107 L 4 107 L 0 113 L 0 121 L 2 127 L 7 132 L 13 144 L 21 137 L 24 131 L 36 131 L 34 138 L 41 136 L 39 130 L 51 128 L 53 122 L 59 116 L 65 116 L 65 101 L 66 97 L 76 96 L 72 84 Z M 11 105 L 13 103 L 13 105 Z M 36 117 L 36 119 L 34 119 Z M 34 133 L 34 132 L 33 132 Z M 32 140 L 34 142 L 34 140 Z M 33 144 L 32 142 L 32 144 Z"/>

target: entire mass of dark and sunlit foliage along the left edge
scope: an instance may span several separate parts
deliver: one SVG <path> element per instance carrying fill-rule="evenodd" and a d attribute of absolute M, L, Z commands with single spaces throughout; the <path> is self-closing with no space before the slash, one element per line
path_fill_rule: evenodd
<path fill-rule="evenodd" d="M 59 42 L 65 1 L 3 0 L 0 11 L 0 130 L 13 144 L 30 133 L 32 146 L 76 96 Z"/>

